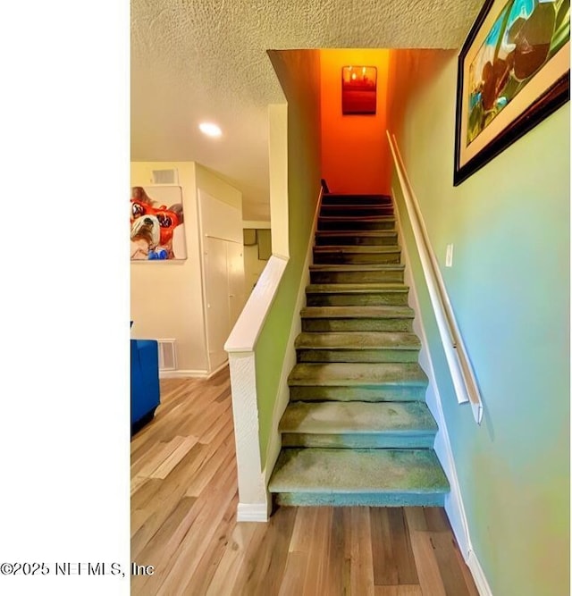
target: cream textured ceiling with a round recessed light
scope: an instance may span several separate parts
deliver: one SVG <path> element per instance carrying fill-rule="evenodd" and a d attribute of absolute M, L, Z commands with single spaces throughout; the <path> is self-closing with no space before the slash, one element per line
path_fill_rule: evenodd
<path fill-rule="evenodd" d="M 482 0 L 132 0 L 131 159 L 197 161 L 268 218 L 266 50 L 461 46 Z M 212 120 L 221 139 L 206 139 Z"/>

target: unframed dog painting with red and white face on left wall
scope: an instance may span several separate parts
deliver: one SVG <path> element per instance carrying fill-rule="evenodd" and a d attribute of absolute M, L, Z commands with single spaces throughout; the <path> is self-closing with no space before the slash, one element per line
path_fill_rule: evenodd
<path fill-rule="evenodd" d="M 134 186 L 130 198 L 131 261 L 187 258 L 180 186 Z"/>

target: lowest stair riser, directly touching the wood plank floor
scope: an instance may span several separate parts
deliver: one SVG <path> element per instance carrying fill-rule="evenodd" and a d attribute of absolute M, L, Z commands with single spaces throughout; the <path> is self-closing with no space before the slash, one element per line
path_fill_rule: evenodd
<path fill-rule="evenodd" d="M 332 493 L 277 492 L 274 497 L 282 507 L 444 507 L 442 493 Z"/>

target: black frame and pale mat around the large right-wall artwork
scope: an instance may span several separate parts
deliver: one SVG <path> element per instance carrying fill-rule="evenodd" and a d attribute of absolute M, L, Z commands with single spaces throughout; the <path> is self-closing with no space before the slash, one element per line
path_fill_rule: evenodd
<path fill-rule="evenodd" d="M 513 63 L 512 73 L 517 81 L 516 94 L 509 99 L 508 105 L 505 104 L 501 108 L 494 106 L 492 110 L 486 112 L 485 108 L 481 106 L 482 113 L 493 113 L 492 121 L 484 124 L 477 136 L 469 141 L 470 135 L 467 134 L 467 130 L 469 129 L 471 117 L 474 115 L 474 97 L 478 97 L 475 93 L 475 80 L 473 80 L 475 71 L 477 70 L 475 65 L 478 65 L 479 58 L 484 55 L 485 39 L 488 40 L 492 35 L 493 29 L 501 22 L 501 17 L 505 27 L 508 26 L 509 12 L 516 2 L 517 0 L 486 0 L 459 52 L 453 186 L 458 186 L 461 182 L 467 180 L 469 176 L 480 170 L 485 164 L 488 164 L 494 157 L 501 154 L 502 151 L 512 145 L 517 139 L 523 137 L 528 131 L 532 130 L 561 105 L 566 104 L 570 98 L 568 11 L 568 41 L 563 43 L 562 46 L 559 46 L 559 49 L 553 55 L 550 55 L 546 62 L 542 63 L 526 79 L 517 80 L 516 75 L 514 75 L 515 66 Z M 557 11 L 556 3 L 553 4 L 554 10 Z M 538 5 L 534 4 L 535 7 Z M 559 7 L 562 7 L 562 3 L 559 4 Z M 495 56 L 499 55 L 501 36 L 506 35 L 506 39 L 512 42 L 514 35 L 510 37 L 511 34 L 511 30 L 501 30 Z M 556 30 L 554 29 L 551 34 L 550 51 L 552 50 L 552 40 L 555 34 Z M 498 57 L 497 60 L 499 60 Z M 514 55 L 512 60 L 514 61 Z M 506 62 L 509 63 L 509 56 Z M 483 85 L 483 80 L 479 82 Z M 469 85 L 471 83 L 473 83 L 473 87 L 469 92 Z M 508 83 L 506 87 L 508 87 Z M 501 88 L 502 90 L 504 88 Z M 495 101 L 498 102 L 500 99 L 506 101 L 506 97 L 495 98 Z M 479 99 L 479 101 L 483 102 L 482 99 Z M 496 109 L 500 111 L 497 112 Z M 471 130 L 471 134 L 474 134 L 474 130 Z"/>

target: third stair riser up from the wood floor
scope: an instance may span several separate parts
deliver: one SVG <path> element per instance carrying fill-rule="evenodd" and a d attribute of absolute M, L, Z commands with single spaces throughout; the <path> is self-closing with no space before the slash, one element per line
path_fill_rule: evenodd
<path fill-rule="evenodd" d="M 290 385 L 291 401 L 424 401 L 426 385 L 389 385 L 384 387 L 324 387 Z"/>

